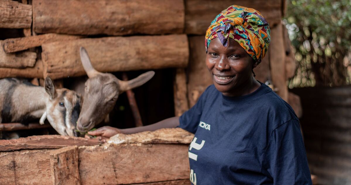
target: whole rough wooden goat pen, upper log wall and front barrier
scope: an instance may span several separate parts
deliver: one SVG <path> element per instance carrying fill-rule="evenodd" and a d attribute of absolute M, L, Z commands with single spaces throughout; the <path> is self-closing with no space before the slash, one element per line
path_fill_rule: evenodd
<path fill-rule="evenodd" d="M 0 78 L 38 83 L 49 76 L 62 87 L 63 78 L 85 75 L 82 46 L 101 72 L 175 69 L 174 115 L 179 116 L 212 83 L 204 64 L 205 31 L 233 4 L 259 10 L 269 22 L 269 52 L 254 69 L 256 78 L 270 83 L 301 115 L 299 97 L 286 85 L 296 66 L 281 23 L 283 0 L 0 0 Z M 13 32 L 21 37 L 12 38 Z M 2 123 L 0 131 L 38 127 L 50 126 Z M 166 133 L 164 139 L 177 135 Z M 191 139 L 169 142 L 158 140 L 161 136 L 118 145 L 113 139 L 101 144 L 64 136 L 2 140 L 0 184 L 188 184 L 183 179 L 188 179 Z"/>

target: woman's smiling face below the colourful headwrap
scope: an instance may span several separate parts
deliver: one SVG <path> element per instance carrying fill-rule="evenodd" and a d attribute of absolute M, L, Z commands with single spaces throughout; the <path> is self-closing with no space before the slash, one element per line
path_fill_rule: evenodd
<path fill-rule="evenodd" d="M 241 95 L 244 89 L 252 85 L 254 60 L 233 39 L 224 47 L 219 38 L 214 38 L 208 46 L 206 66 L 216 89 L 227 96 Z"/>

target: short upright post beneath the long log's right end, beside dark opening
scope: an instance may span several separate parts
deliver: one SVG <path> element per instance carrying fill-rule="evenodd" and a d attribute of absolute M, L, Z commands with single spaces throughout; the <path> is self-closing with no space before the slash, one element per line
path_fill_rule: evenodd
<path fill-rule="evenodd" d="M 176 76 L 173 83 L 174 94 L 174 115 L 181 116 L 189 109 L 188 99 L 186 97 L 186 75 L 183 68 L 176 69 Z"/>

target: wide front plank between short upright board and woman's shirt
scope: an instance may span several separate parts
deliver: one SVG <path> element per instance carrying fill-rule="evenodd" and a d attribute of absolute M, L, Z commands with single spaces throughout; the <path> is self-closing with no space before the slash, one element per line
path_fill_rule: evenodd
<path fill-rule="evenodd" d="M 136 184 L 187 179 L 188 144 L 111 144 L 79 149 L 81 184 Z"/>

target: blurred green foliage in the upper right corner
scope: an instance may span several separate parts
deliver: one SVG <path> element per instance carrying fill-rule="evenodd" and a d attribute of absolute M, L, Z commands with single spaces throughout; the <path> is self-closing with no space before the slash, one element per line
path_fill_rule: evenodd
<path fill-rule="evenodd" d="M 299 63 L 289 87 L 350 84 L 351 1 L 291 0 L 283 20 Z"/>

